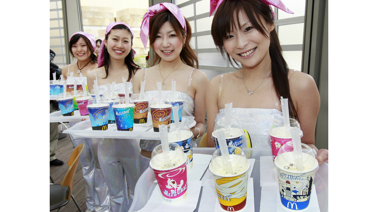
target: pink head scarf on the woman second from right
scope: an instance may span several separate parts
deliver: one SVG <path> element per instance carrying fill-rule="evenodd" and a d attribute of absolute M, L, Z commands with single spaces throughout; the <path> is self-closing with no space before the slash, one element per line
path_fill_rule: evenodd
<path fill-rule="evenodd" d="M 176 5 L 167 2 L 155 4 L 147 9 L 146 14 L 143 16 L 142 25 L 140 26 L 140 39 L 142 40 L 144 49 L 147 48 L 147 40 L 150 33 L 150 19 L 164 10 L 169 10 L 179 21 L 185 32 L 187 31 L 184 15 Z"/>

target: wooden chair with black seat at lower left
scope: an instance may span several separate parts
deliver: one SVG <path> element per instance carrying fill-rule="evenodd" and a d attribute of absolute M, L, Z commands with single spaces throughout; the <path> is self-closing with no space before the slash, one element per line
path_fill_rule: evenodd
<path fill-rule="evenodd" d="M 50 180 L 53 184 L 50 184 L 50 211 L 56 210 L 67 205 L 70 197 L 72 197 L 73 202 L 80 212 L 83 212 L 77 204 L 75 197 L 72 195 L 73 177 L 75 176 L 77 163 L 81 152 L 84 149 L 84 144 L 80 144 L 73 150 L 71 156 L 68 160 L 68 171 L 65 173 L 62 184 L 54 184 L 53 179 L 50 176 Z"/>

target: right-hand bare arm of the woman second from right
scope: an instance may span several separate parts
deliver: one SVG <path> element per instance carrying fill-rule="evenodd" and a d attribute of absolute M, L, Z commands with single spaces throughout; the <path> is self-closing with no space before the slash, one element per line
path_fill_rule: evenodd
<path fill-rule="evenodd" d="M 198 130 L 199 136 L 205 133 L 207 77 L 202 71 L 195 70 L 192 79 L 192 85 L 195 89 L 193 116 L 196 124 L 190 131 L 193 132 L 194 137 L 196 137 Z"/>

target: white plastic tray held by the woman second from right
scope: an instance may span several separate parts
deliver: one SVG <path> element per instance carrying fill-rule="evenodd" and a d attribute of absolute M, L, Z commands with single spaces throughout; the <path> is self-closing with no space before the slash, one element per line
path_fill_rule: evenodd
<path fill-rule="evenodd" d="M 80 116 L 83 117 L 83 116 Z M 87 116 L 88 117 L 88 116 Z M 89 117 L 88 117 L 89 119 Z M 189 128 L 195 126 L 196 122 L 193 117 L 183 116 L 182 122 L 188 124 Z M 190 122 L 190 123 L 188 123 Z M 127 139 L 148 139 L 148 140 L 160 140 L 160 133 L 154 132 L 152 127 L 151 114 L 149 113 L 147 123 L 134 124 L 133 131 L 118 131 L 116 124 L 108 124 L 108 129 L 105 131 L 92 130 L 91 121 L 86 120 L 75 124 L 64 133 L 70 133 L 75 137 L 86 138 L 127 138 Z"/>

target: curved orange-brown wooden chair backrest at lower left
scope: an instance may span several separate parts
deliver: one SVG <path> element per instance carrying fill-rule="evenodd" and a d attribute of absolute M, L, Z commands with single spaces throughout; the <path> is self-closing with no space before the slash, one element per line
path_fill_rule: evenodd
<path fill-rule="evenodd" d="M 79 162 L 79 158 L 81 155 L 81 152 L 83 152 L 84 149 L 84 143 L 80 144 L 77 146 L 71 156 L 68 159 L 68 171 L 65 173 L 64 179 L 62 181 L 62 187 L 68 185 L 69 187 L 69 192 L 70 194 L 68 195 L 68 200 L 71 197 L 72 193 L 72 185 L 73 185 L 73 177 L 75 176 L 76 168 L 77 168 L 77 163 Z"/>

